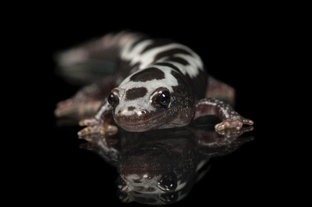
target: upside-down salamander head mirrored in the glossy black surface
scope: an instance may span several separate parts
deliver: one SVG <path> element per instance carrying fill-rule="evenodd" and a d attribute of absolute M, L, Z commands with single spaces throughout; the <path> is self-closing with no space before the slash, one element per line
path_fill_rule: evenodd
<path fill-rule="evenodd" d="M 137 192 L 173 192 L 181 182 L 182 174 L 173 172 L 181 170 L 178 167 L 180 153 L 161 143 L 149 144 L 139 145 L 126 152 L 118 167 L 120 177 Z"/>

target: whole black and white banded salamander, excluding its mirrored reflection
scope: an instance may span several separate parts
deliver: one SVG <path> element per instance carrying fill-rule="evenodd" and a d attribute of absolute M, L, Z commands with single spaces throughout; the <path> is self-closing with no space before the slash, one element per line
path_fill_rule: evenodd
<path fill-rule="evenodd" d="M 66 51 L 59 60 L 61 65 L 74 65 L 94 57 L 104 59 L 105 55 L 100 55 L 109 51 L 114 51 L 106 56 L 115 57 L 116 69 L 112 81 L 105 83 L 107 86 L 112 82 L 111 85 L 116 86 L 110 90 L 110 96 L 116 102 L 109 104 L 104 99 L 100 105 L 100 98 L 94 98 L 104 98 L 102 81 L 93 86 L 98 90 L 92 90 L 91 87 L 89 93 L 84 93 L 85 98 L 81 98 L 80 93 L 80 99 L 76 95 L 60 103 L 56 109 L 56 115 L 60 116 L 74 107 L 84 112 L 88 111 L 85 108 L 97 108 L 100 105 L 94 118 L 80 121 L 81 126 L 88 127 L 78 132 L 78 135 L 105 133 L 112 118 L 119 127 L 131 132 L 186 126 L 193 119 L 204 115 L 216 115 L 222 120 L 216 125 L 216 130 L 239 130 L 243 124 L 253 124 L 251 120 L 241 117 L 229 104 L 206 96 L 216 94 L 216 88 L 221 88 L 222 83 L 215 81 L 213 90 L 212 87 L 209 89 L 207 70 L 201 58 L 187 46 L 173 41 L 120 32 Z M 224 91 L 227 94 L 227 90 L 222 89 L 222 93 Z M 158 96 L 163 92 L 170 94 L 170 103 L 166 106 L 158 103 Z"/>

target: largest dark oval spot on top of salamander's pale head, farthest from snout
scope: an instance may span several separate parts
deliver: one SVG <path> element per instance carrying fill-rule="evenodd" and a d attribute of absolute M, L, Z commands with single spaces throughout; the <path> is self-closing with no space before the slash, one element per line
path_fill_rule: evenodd
<path fill-rule="evenodd" d="M 159 70 L 158 68 L 147 68 L 139 73 L 136 73 L 131 76 L 130 80 L 134 82 L 145 82 L 148 80 L 161 80 L 165 78 L 165 74 L 163 71 Z"/>

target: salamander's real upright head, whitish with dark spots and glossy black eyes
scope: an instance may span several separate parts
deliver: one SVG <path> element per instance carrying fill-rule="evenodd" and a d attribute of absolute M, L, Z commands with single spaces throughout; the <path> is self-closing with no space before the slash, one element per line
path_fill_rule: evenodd
<path fill-rule="evenodd" d="M 169 67 L 158 66 L 124 79 L 108 96 L 116 124 L 130 132 L 170 127 L 170 123 L 180 119 L 179 105 L 188 95 L 179 76 Z"/>

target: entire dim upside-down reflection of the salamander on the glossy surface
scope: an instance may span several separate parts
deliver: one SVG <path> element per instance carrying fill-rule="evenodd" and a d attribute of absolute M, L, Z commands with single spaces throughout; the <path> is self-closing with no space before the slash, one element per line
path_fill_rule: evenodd
<path fill-rule="evenodd" d="M 183 199 L 207 173 L 211 156 L 228 154 L 251 140 L 236 139 L 244 131 L 239 132 L 232 129 L 220 135 L 207 126 L 138 133 L 119 130 L 106 138 L 85 135 L 82 138 L 89 143 L 82 147 L 118 168 L 116 186 L 123 202 L 158 205 Z"/>

